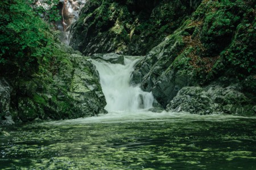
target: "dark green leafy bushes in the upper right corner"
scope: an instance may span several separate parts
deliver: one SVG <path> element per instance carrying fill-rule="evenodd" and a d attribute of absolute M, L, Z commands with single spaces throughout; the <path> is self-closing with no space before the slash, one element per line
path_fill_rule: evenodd
<path fill-rule="evenodd" d="M 244 0 L 203 1 L 193 14 L 200 25 L 201 57 L 220 56 L 211 73 L 240 78 L 255 74 L 255 2 Z"/>

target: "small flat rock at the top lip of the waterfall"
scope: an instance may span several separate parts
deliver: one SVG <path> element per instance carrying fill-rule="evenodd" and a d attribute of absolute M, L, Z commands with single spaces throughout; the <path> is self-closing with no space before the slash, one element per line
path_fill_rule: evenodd
<path fill-rule="evenodd" d="M 108 61 L 110 63 L 124 63 L 124 56 L 115 54 L 115 53 L 108 53 L 108 54 L 93 54 L 90 58 L 92 59 L 103 59 L 104 61 Z"/>

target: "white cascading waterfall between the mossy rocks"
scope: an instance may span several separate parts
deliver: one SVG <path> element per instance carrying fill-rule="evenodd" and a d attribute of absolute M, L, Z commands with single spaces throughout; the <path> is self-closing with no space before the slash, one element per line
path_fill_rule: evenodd
<path fill-rule="evenodd" d="M 121 65 L 92 59 L 100 74 L 100 83 L 107 102 L 105 109 L 108 112 L 136 112 L 152 108 L 152 92 L 144 92 L 139 86 L 130 85 L 131 72 L 137 61 L 138 59 L 125 58 L 124 65 Z"/>

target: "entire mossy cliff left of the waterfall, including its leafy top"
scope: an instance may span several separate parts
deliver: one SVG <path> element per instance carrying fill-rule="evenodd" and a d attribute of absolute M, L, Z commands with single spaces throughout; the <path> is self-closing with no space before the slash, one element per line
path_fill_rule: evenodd
<path fill-rule="evenodd" d="M 91 63 L 24 1 L 0 2 L 0 124 L 105 112 Z"/>

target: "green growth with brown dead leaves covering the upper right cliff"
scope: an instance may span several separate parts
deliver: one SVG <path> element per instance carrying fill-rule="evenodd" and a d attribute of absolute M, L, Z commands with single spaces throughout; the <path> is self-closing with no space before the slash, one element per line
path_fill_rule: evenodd
<path fill-rule="evenodd" d="M 254 14 L 251 2 L 203 1 L 192 18 L 181 25 L 179 29 L 184 32 L 180 35 L 185 44 L 194 48 L 184 57 L 191 58 L 189 64 L 196 71 L 199 81 L 207 83 L 220 76 L 225 69 L 232 73 L 228 76 L 244 78 L 250 73 L 254 74 Z M 186 50 L 184 48 L 180 54 Z M 175 60 L 174 65 L 177 63 Z"/>

